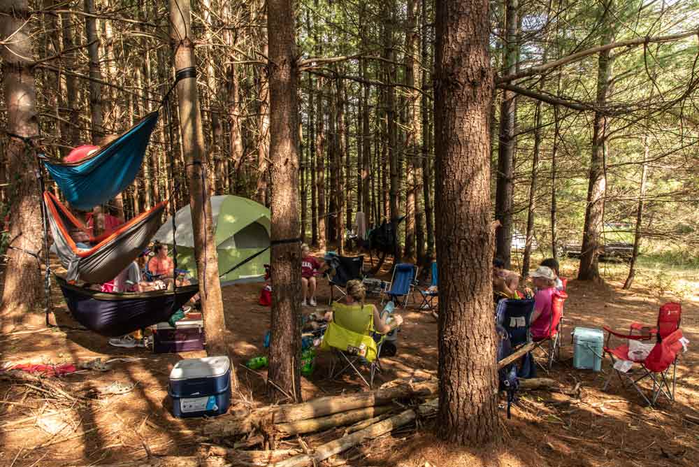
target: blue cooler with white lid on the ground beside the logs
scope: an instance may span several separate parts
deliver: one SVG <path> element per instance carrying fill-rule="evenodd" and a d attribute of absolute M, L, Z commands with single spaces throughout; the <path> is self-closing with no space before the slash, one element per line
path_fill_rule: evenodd
<path fill-rule="evenodd" d="M 168 394 L 173 415 L 215 417 L 231 405 L 231 361 L 228 357 L 180 360 L 170 372 Z"/>

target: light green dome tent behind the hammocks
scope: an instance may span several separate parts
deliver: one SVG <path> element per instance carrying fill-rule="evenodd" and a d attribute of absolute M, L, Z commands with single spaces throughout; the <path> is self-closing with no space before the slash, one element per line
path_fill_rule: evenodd
<path fill-rule="evenodd" d="M 228 271 L 241 261 L 269 247 L 270 213 L 267 208 L 250 199 L 225 194 L 211 196 L 214 238 L 219 257 L 219 273 Z M 194 233 L 189 205 L 175 213 L 178 268 L 188 269 L 196 278 Z M 173 243 L 172 217 L 157 231 L 153 240 L 166 245 Z M 264 264 L 269 264 L 269 250 L 259 254 L 234 271 L 222 276 L 221 282 L 252 282 L 264 276 Z"/>

